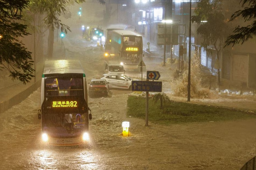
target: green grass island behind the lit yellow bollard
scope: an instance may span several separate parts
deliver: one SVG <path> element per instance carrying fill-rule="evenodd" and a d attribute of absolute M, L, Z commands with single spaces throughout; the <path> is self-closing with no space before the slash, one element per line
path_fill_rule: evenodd
<path fill-rule="evenodd" d="M 219 106 L 191 104 L 188 102 L 164 103 L 164 109 L 160 109 L 160 102 L 152 98 L 148 101 L 148 119 L 159 124 L 227 121 L 236 119 L 255 119 L 255 112 L 236 110 Z M 145 119 L 146 99 L 143 97 L 129 96 L 127 102 L 127 116 Z"/>

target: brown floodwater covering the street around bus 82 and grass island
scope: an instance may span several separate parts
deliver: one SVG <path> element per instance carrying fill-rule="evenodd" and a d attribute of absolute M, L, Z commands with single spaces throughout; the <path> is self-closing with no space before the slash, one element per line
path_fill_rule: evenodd
<path fill-rule="evenodd" d="M 55 51 L 56 58 L 79 59 L 88 82 L 102 76 L 103 51 L 96 43 L 86 42 L 76 32 L 67 36 L 64 45 L 65 55 L 58 56 L 63 51 Z M 161 58 L 145 57 L 144 61 L 147 70 L 160 72 L 163 92 L 171 99 L 186 100 L 171 93 L 171 70 L 176 66 L 162 67 Z M 141 78 L 141 73 L 127 75 Z M 145 120 L 126 117 L 130 93 L 111 89 L 108 97 L 89 98 L 89 146 L 52 147 L 41 142 L 37 89 L 0 114 L 0 170 L 239 170 L 256 154 L 256 119 L 170 126 L 149 122 L 145 127 Z M 192 102 L 256 109 L 253 96 L 219 96 Z M 121 136 L 123 121 L 130 122 L 129 137 Z"/>

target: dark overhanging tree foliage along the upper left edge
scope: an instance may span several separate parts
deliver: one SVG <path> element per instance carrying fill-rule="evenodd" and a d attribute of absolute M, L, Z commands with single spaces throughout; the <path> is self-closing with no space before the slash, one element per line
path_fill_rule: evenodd
<path fill-rule="evenodd" d="M 23 21 L 23 10 L 29 0 L 0 1 L 0 70 L 7 69 L 12 79 L 24 84 L 34 77 L 31 52 L 27 51 L 20 37 L 29 35 Z"/>

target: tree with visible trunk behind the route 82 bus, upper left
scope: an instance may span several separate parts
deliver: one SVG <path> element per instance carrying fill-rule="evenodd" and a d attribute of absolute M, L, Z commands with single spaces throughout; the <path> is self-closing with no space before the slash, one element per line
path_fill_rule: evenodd
<path fill-rule="evenodd" d="M 61 29 L 62 32 L 66 34 L 68 31 L 71 32 L 70 27 L 63 24 L 61 20 L 58 18 L 61 14 L 65 14 L 66 6 L 69 3 L 83 3 L 86 0 L 30 0 L 31 7 L 30 9 L 34 9 L 33 13 L 40 12 L 41 14 L 45 14 L 44 18 L 45 24 L 49 31 L 48 36 L 48 50 L 47 56 L 48 58 L 52 58 L 53 56 L 53 44 L 54 44 L 54 30 Z M 98 0 L 101 4 L 105 4 L 105 0 Z"/>

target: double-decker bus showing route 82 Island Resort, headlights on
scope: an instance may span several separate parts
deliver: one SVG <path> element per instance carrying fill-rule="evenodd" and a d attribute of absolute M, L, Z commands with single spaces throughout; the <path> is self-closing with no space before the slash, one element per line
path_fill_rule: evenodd
<path fill-rule="evenodd" d="M 41 82 L 42 140 L 50 145 L 89 143 L 86 76 L 79 60 L 48 60 Z M 90 113 L 89 113 L 90 112 Z"/>

